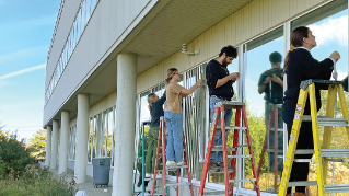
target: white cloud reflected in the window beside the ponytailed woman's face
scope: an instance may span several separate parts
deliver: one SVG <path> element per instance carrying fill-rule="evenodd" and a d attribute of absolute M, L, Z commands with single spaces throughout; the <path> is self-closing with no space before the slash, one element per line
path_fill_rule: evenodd
<path fill-rule="evenodd" d="M 317 25 L 309 25 L 316 37 L 317 46 L 328 43 L 337 43 L 348 46 L 348 15 L 337 19 L 328 19 Z"/>

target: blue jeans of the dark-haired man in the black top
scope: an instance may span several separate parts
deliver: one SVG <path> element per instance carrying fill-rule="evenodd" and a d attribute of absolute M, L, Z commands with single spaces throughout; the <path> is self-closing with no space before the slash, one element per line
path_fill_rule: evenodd
<path fill-rule="evenodd" d="M 217 96 L 211 96 L 210 99 L 210 112 L 211 112 L 211 123 L 213 119 L 213 114 L 214 114 L 214 105 L 218 102 L 222 102 L 224 100 L 219 99 Z M 232 109 L 224 109 L 224 122 L 225 126 L 230 126 L 230 123 L 232 120 L 233 116 L 233 111 Z M 218 118 L 218 124 L 221 125 L 221 118 Z M 226 132 L 226 130 L 225 130 Z M 225 138 L 226 139 L 226 138 Z M 216 130 L 214 135 L 214 140 L 213 140 L 213 146 L 222 146 L 222 130 Z M 221 151 L 216 151 L 211 153 L 211 162 L 222 162 L 223 161 L 223 152 Z"/>

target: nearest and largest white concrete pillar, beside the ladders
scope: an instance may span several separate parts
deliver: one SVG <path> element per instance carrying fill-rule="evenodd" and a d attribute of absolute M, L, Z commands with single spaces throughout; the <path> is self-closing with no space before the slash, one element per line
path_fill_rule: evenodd
<path fill-rule="evenodd" d="M 132 195 L 136 127 L 137 55 L 117 55 L 117 119 L 113 196 Z"/>

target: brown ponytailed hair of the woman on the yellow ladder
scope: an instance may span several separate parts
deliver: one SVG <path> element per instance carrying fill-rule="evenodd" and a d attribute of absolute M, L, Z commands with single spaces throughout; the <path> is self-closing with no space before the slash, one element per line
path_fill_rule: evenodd
<path fill-rule="evenodd" d="M 303 38 L 304 37 L 307 38 L 307 34 L 309 34 L 309 27 L 306 26 L 299 26 L 294 28 L 291 33 L 291 45 L 294 47 L 303 46 Z M 293 50 L 289 50 L 289 53 L 284 57 L 282 74 L 286 74 L 288 70 L 289 58 L 292 51 Z"/>

